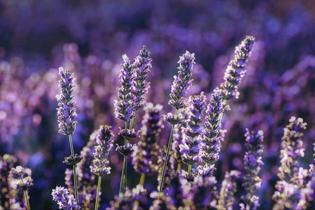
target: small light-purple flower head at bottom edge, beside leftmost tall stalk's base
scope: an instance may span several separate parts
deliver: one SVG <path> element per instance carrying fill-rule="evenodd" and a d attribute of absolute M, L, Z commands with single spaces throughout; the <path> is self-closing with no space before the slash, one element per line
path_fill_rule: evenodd
<path fill-rule="evenodd" d="M 51 195 L 53 196 L 53 200 L 57 201 L 60 209 L 80 209 L 80 206 L 77 205 L 73 195 L 70 196 L 68 189 L 65 189 L 64 187 L 57 186 L 56 189 L 53 189 Z"/>

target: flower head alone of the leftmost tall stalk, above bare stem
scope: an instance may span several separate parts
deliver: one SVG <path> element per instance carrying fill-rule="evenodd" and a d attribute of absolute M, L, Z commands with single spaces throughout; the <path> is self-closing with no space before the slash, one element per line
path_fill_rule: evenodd
<path fill-rule="evenodd" d="M 73 73 L 63 70 L 62 67 L 59 68 L 59 74 L 61 76 L 59 81 L 61 92 L 59 95 L 56 95 L 57 101 L 59 101 L 59 108 L 57 109 L 59 133 L 71 135 L 74 133 L 77 125 L 77 121 L 74 120 L 77 117 L 76 109 L 73 108 L 75 101 L 72 100 L 74 97 L 72 91 L 75 78 Z"/>

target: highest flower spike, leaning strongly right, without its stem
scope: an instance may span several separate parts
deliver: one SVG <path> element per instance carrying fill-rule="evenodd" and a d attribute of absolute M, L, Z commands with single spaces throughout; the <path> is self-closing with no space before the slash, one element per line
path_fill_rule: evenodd
<path fill-rule="evenodd" d="M 223 100 L 238 98 L 238 85 L 245 74 L 245 63 L 250 56 L 255 38 L 247 36 L 240 45 L 235 48 L 234 60 L 231 60 L 227 66 L 224 82 L 221 83 L 220 88 L 216 88 L 215 92 L 222 94 Z"/>

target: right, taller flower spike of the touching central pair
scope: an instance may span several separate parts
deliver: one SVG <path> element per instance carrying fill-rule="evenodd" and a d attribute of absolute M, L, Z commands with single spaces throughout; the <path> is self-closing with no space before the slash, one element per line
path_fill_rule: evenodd
<path fill-rule="evenodd" d="M 150 52 L 146 50 L 146 46 L 140 50 L 140 54 L 135 58 L 134 65 L 136 66 L 134 71 L 133 89 L 131 90 L 134 95 L 133 101 L 135 102 L 135 111 L 144 107 L 145 101 L 143 94 L 148 92 L 150 88 L 150 82 L 146 82 L 147 74 L 150 72 L 149 67 L 152 67 L 149 58 Z"/>

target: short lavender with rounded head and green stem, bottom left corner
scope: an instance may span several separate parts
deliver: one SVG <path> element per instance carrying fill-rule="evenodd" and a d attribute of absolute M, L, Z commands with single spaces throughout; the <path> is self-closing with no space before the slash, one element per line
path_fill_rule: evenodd
<path fill-rule="evenodd" d="M 11 168 L 8 180 L 12 180 L 16 185 L 17 190 L 21 190 L 24 193 L 26 201 L 26 209 L 30 210 L 30 202 L 28 200 L 28 189 L 33 185 L 33 179 L 31 178 L 31 169 L 17 166 Z"/>

